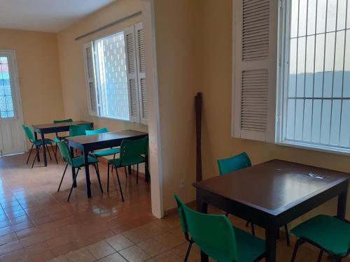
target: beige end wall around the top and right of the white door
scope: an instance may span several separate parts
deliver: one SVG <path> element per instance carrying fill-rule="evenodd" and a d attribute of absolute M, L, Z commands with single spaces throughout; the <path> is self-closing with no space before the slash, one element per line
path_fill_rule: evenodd
<path fill-rule="evenodd" d="M 15 50 L 24 122 L 64 117 L 57 34 L 0 29 L 0 49 Z"/>

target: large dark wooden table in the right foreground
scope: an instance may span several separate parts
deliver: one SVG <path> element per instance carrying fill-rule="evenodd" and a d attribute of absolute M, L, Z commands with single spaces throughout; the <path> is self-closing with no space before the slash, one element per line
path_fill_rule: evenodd
<path fill-rule="evenodd" d="M 300 163 L 272 160 L 193 184 L 197 207 L 213 205 L 265 228 L 267 261 L 276 261 L 279 228 L 338 197 L 337 216 L 345 217 L 350 175 Z M 208 256 L 201 255 L 202 261 Z"/>

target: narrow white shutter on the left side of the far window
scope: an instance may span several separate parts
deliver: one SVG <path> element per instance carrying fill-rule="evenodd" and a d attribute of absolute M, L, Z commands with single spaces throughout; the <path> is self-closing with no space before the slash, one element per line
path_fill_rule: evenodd
<path fill-rule="evenodd" d="M 83 45 L 83 56 L 85 64 L 85 78 L 87 89 L 87 107 L 89 114 L 92 116 L 97 115 L 97 97 L 96 87 L 94 80 L 94 57 L 93 57 L 92 42 L 85 43 Z"/>

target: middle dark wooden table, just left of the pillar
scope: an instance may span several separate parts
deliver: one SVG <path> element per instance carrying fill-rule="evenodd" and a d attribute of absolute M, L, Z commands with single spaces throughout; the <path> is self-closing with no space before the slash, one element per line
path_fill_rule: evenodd
<path fill-rule="evenodd" d="M 85 161 L 85 178 L 86 178 L 86 193 L 87 197 L 91 197 L 90 189 L 90 172 L 88 168 L 87 157 L 89 152 L 93 150 L 102 150 L 109 147 L 118 147 L 123 140 L 137 140 L 148 136 L 148 133 L 134 131 L 134 130 L 123 130 L 114 131 L 108 133 L 99 133 L 97 135 L 90 136 L 73 136 L 71 138 L 66 138 L 69 143 L 71 154 L 73 156 L 73 148 L 83 152 Z M 146 158 L 146 161 L 148 159 Z M 148 165 L 147 165 L 148 166 Z M 71 168 L 73 177 L 75 176 L 75 168 Z M 148 173 L 146 173 L 146 181 L 148 180 Z M 76 184 L 74 185 L 76 187 Z"/>

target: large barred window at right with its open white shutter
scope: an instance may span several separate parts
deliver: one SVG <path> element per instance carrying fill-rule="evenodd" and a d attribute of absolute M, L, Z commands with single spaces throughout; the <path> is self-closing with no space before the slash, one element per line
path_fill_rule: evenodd
<path fill-rule="evenodd" d="M 233 2 L 233 136 L 349 154 L 349 0 Z"/>

